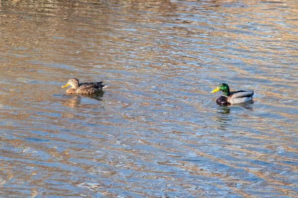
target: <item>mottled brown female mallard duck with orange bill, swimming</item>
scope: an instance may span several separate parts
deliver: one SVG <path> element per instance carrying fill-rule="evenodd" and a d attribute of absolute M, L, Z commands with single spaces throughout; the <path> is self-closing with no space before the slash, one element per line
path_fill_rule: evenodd
<path fill-rule="evenodd" d="M 70 79 L 67 84 L 61 88 L 66 88 L 72 86 L 66 90 L 67 94 L 95 94 L 101 91 L 103 88 L 106 88 L 106 85 L 102 85 L 103 82 L 97 83 L 79 83 L 76 78 Z"/>

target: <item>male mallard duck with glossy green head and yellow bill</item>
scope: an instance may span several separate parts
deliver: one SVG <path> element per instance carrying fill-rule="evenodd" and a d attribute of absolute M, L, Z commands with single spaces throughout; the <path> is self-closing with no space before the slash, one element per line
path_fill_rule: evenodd
<path fill-rule="evenodd" d="M 215 93 L 218 91 L 224 92 L 224 94 L 216 100 L 216 102 L 220 104 L 238 104 L 242 102 L 247 102 L 252 99 L 252 95 L 253 95 L 253 91 L 241 90 L 238 92 L 230 92 L 229 87 L 226 83 L 221 83 L 211 93 Z"/>

